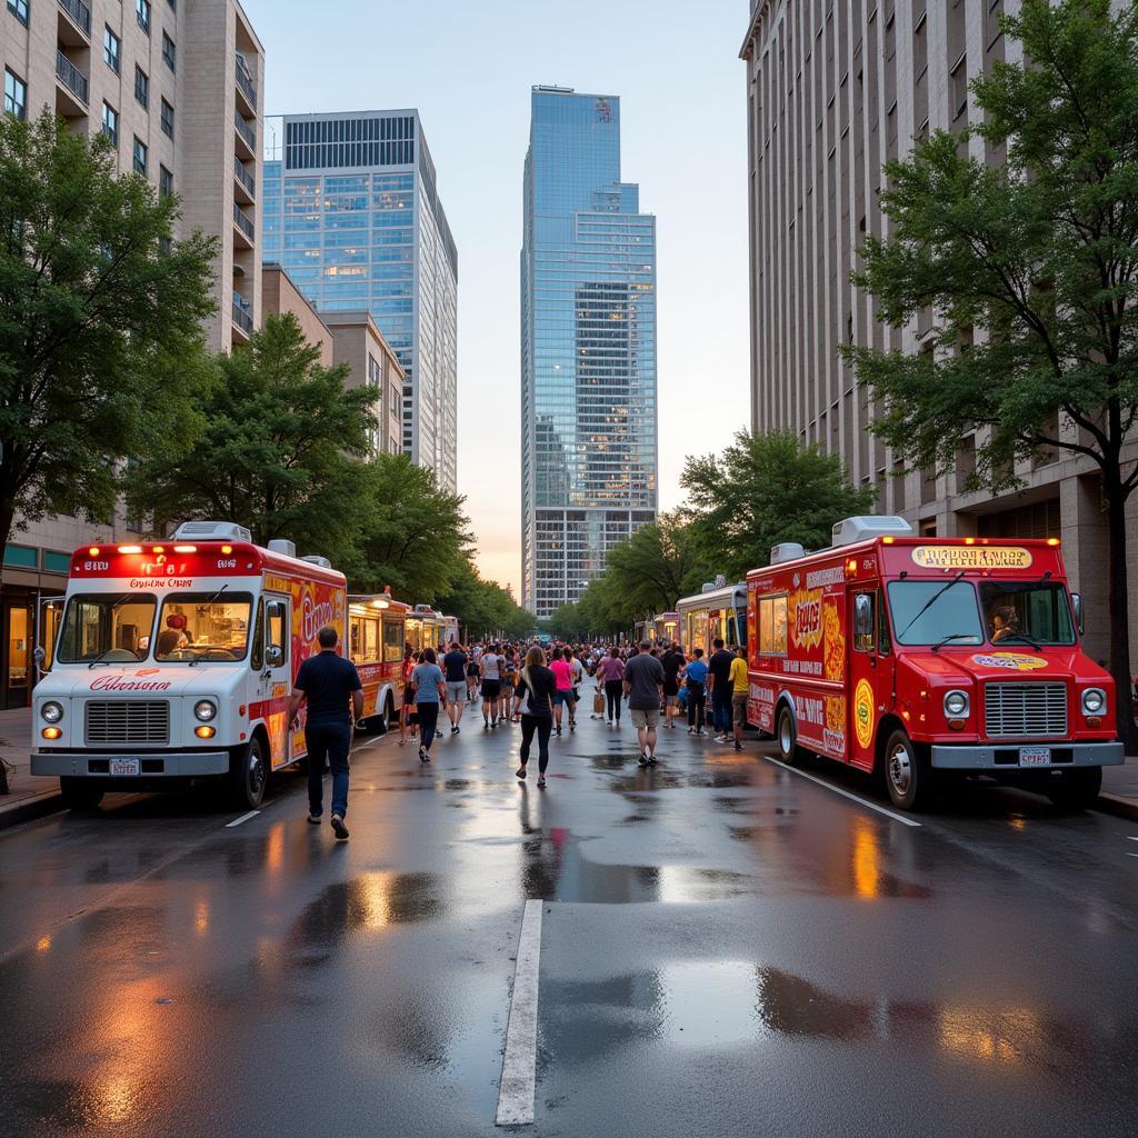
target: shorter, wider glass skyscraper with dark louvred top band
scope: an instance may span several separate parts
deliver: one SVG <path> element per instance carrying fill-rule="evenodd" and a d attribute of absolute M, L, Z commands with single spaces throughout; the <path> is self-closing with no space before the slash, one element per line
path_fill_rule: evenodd
<path fill-rule="evenodd" d="M 405 372 L 403 450 L 457 481 L 459 255 L 415 110 L 266 119 L 263 244 L 320 312 L 368 310 Z"/>

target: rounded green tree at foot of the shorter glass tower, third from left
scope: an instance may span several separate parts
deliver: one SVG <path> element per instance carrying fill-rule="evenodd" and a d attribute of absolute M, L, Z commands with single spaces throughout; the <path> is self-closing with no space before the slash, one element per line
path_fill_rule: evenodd
<path fill-rule="evenodd" d="M 397 596 L 434 603 L 468 563 L 462 503 L 407 455 L 377 455 L 363 469 L 357 533 L 345 561 L 353 588 L 371 593 L 390 585 Z"/>

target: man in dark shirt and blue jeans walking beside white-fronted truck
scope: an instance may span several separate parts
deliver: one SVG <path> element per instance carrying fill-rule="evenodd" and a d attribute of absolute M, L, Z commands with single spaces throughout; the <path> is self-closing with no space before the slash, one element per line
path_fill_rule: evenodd
<path fill-rule="evenodd" d="M 324 760 L 332 768 L 332 831 L 344 841 L 348 827 L 348 751 L 352 728 L 363 715 L 363 684 L 351 660 L 336 651 L 336 629 L 325 625 L 316 633 L 320 652 L 300 665 L 292 683 L 289 725 L 300 726 L 300 703 L 307 701 L 304 737 L 308 744 L 308 820 L 320 825 L 324 813 Z"/>

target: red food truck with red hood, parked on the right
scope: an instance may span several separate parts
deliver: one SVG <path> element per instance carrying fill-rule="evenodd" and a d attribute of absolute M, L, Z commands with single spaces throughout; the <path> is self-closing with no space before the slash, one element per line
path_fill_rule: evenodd
<path fill-rule="evenodd" d="M 801 751 L 884 777 L 901 809 L 943 773 L 1085 806 L 1123 761 L 1111 676 L 1079 646 L 1057 538 L 918 537 L 847 518 L 833 545 L 748 575 L 748 718 Z"/>

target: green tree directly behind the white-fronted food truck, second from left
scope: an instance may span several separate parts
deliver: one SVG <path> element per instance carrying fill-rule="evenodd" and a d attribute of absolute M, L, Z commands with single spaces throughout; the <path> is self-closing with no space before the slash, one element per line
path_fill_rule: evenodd
<path fill-rule="evenodd" d="M 221 381 L 199 393 L 193 448 L 132 464 L 127 502 L 159 523 L 224 518 L 254 541 L 295 541 L 340 560 L 352 549 L 374 424 L 373 388 L 345 388 L 291 314 L 272 315 L 248 344 L 217 357 Z"/>

